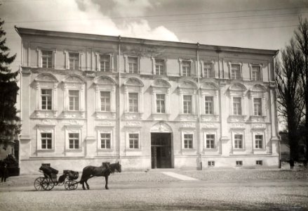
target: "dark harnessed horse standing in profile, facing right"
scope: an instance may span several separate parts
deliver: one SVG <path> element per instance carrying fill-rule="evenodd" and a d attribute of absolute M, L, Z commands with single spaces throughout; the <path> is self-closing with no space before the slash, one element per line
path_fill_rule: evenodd
<path fill-rule="evenodd" d="M 121 164 L 119 162 L 109 165 L 104 165 L 104 163 L 102 163 L 100 167 L 88 165 L 83 168 L 79 183 L 82 184 L 83 190 L 86 190 L 86 188 L 90 189 L 88 179 L 92 177 L 105 177 L 105 188 L 108 190 L 108 177 L 111 173 L 114 173 L 115 170 L 121 172 Z M 84 183 L 86 183 L 86 188 L 84 187 Z"/>

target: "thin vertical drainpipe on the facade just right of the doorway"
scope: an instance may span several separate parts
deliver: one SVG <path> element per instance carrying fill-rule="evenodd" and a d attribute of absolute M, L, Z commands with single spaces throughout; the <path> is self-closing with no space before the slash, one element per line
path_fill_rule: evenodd
<path fill-rule="evenodd" d="M 199 139 L 199 158 L 200 158 L 200 170 L 202 170 L 202 144 L 201 144 L 201 112 L 200 112 L 200 72 L 199 72 L 199 42 L 196 44 L 196 72 L 198 79 L 198 139 Z"/>

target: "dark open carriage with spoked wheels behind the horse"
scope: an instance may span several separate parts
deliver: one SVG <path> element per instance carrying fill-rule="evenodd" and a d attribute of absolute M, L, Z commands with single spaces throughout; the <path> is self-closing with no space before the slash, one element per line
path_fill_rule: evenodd
<path fill-rule="evenodd" d="M 52 167 L 42 165 L 39 168 L 39 172 L 43 173 L 44 177 L 38 177 L 34 181 L 34 188 L 37 191 L 51 191 L 54 186 L 62 186 L 64 184 L 65 189 L 75 190 L 79 184 L 79 173 L 72 170 L 63 170 L 63 174 L 57 178 L 58 170 Z"/>

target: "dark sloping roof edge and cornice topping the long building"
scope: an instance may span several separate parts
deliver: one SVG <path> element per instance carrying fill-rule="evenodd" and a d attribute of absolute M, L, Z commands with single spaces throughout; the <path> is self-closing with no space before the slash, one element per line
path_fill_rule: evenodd
<path fill-rule="evenodd" d="M 121 37 L 121 36 L 107 36 L 100 34 L 85 34 L 85 33 L 76 33 L 76 32 L 59 32 L 59 31 L 50 31 L 50 30 L 36 30 L 30 28 L 16 27 L 16 32 L 20 34 L 20 37 L 24 35 L 39 35 L 47 37 L 62 37 L 70 39 L 86 39 L 86 40 L 95 40 L 95 41 L 113 41 L 121 43 L 130 43 L 130 44 L 145 44 L 152 46 L 166 46 L 166 47 L 175 47 L 175 48 L 185 48 L 185 49 L 201 49 L 208 51 L 220 52 L 234 52 L 234 53 L 257 53 L 265 54 L 270 56 L 276 56 L 279 50 L 267 50 L 267 49 L 249 49 L 249 48 L 240 48 L 232 46 L 214 46 L 206 45 L 199 43 L 185 43 L 180 41 L 161 41 L 153 39 L 140 39 L 140 38 L 131 38 L 131 37 Z"/>

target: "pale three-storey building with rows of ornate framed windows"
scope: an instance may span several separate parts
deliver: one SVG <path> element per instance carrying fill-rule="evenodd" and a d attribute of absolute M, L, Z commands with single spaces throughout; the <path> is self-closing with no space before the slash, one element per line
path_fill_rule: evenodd
<path fill-rule="evenodd" d="M 15 30 L 21 174 L 279 167 L 278 51 Z"/>

